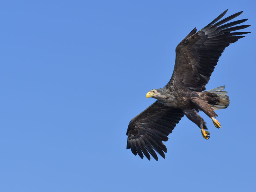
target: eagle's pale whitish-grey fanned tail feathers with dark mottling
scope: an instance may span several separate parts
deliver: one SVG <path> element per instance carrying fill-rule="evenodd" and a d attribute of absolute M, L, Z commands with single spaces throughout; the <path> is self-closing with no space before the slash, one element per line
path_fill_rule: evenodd
<path fill-rule="evenodd" d="M 212 94 L 212 97 L 215 99 L 215 102 L 211 103 L 212 104 L 211 108 L 213 110 L 225 109 L 228 107 L 229 105 L 229 97 L 227 95 L 228 92 L 222 91 L 224 88 L 225 88 L 225 85 L 206 91 L 206 92 L 214 93 Z"/>

